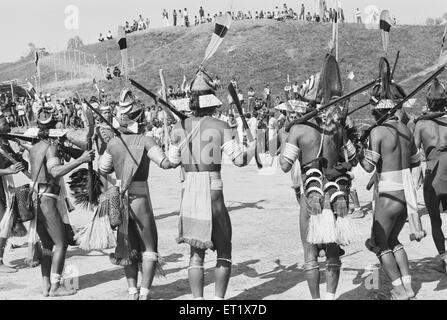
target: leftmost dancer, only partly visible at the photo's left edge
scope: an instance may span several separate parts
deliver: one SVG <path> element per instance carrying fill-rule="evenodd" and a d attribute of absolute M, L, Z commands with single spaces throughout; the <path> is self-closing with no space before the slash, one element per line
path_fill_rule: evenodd
<path fill-rule="evenodd" d="M 8 122 L 6 121 L 5 116 L 2 114 L 0 115 L 0 132 L 1 133 L 9 133 L 10 127 Z M 3 145 L 7 144 L 5 141 L 1 141 L 0 148 L 3 149 Z M 9 144 L 8 144 L 9 146 Z M 5 150 L 5 152 L 7 152 Z M 10 164 L 10 162 L 0 157 L 0 221 L 2 221 L 3 218 L 6 217 L 6 210 L 8 209 L 8 203 L 10 202 L 10 199 L 8 199 L 8 183 L 11 178 L 11 175 L 17 174 L 20 171 L 25 169 L 25 166 L 21 162 L 17 162 L 16 164 Z M 9 229 L 9 226 L 6 226 Z M 9 233 L 9 232 L 8 232 Z M 5 252 L 5 246 L 6 246 L 7 238 L 3 238 L 0 236 L 0 273 L 14 273 L 17 272 L 16 269 L 10 268 L 8 266 L 5 266 L 3 263 L 3 254 Z"/>

